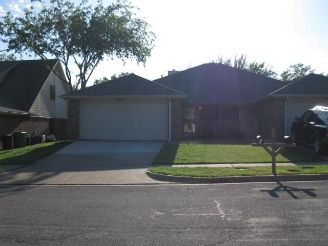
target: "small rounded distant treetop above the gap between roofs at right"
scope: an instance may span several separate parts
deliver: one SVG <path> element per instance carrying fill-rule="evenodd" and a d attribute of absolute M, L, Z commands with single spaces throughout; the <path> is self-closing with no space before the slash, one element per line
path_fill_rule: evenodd
<path fill-rule="evenodd" d="M 304 66 L 303 64 L 298 63 L 283 71 L 280 76 L 283 81 L 291 83 L 314 72 L 315 69 L 312 69 L 311 65 Z"/>

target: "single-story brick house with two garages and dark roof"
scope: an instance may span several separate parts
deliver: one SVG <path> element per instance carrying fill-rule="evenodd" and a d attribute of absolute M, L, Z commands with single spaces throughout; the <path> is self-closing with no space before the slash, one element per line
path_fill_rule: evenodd
<path fill-rule="evenodd" d="M 309 75 L 286 84 L 203 64 L 154 81 L 131 74 L 61 97 L 72 139 L 253 138 L 270 137 L 271 128 L 282 137 L 296 116 L 324 105 L 327 79 Z"/>

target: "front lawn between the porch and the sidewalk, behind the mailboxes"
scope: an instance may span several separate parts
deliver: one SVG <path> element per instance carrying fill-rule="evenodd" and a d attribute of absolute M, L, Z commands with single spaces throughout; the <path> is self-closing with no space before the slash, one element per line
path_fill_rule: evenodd
<path fill-rule="evenodd" d="M 284 149 L 277 162 L 322 161 L 321 158 L 298 147 Z M 192 163 L 261 163 L 271 162 L 271 156 L 261 147 L 250 144 L 195 142 L 165 143 L 153 161 L 153 165 Z"/>

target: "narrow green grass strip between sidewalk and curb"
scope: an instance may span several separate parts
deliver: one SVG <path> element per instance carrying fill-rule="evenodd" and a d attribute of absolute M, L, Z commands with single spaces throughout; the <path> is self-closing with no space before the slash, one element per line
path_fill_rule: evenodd
<path fill-rule="evenodd" d="M 191 176 L 191 177 L 228 177 L 250 175 L 272 175 L 271 167 L 239 167 L 239 168 L 210 168 L 210 167 L 151 167 L 153 173 Z M 277 166 L 277 174 L 322 174 L 328 173 L 328 165 L 313 166 Z"/>

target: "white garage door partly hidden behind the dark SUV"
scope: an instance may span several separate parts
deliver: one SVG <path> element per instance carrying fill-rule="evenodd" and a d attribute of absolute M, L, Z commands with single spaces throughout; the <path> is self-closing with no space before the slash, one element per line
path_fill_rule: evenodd
<path fill-rule="evenodd" d="M 301 117 L 302 114 L 315 106 L 328 107 L 327 101 L 288 101 L 287 102 L 287 135 L 291 135 L 292 124 L 295 117 Z"/>

